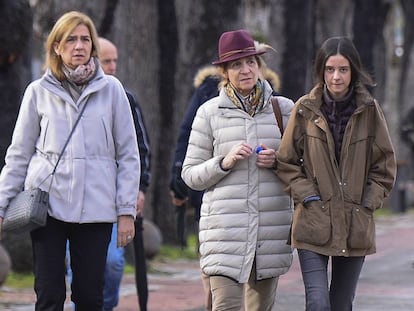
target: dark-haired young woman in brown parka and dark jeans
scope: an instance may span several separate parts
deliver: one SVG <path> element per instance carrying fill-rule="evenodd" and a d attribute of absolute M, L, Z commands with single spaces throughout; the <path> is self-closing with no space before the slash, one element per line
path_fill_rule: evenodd
<path fill-rule="evenodd" d="M 316 85 L 295 104 L 283 135 L 278 174 L 295 203 L 291 243 L 306 310 L 349 311 L 365 256 L 375 253 L 373 214 L 393 187 L 396 161 L 352 41 L 326 40 L 314 69 Z"/>

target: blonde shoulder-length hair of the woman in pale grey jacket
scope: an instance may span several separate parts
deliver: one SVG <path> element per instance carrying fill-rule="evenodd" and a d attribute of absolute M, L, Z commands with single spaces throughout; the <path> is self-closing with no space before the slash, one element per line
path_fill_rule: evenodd
<path fill-rule="evenodd" d="M 46 49 L 46 61 L 44 68 L 49 68 L 53 75 L 62 81 L 65 79 L 65 75 L 62 71 L 62 58 L 55 52 L 55 44 L 58 44 L 58 50 L 62 49 L 64 42 L 72 31 L 79 25 L 85 25 L 89 29 L 89 33 L 92 40 L 92 53 L 91 56 L 98 56 L 99 42 L 98 33 L 92 20 L 86 14 L 78 11 L 71 11 L 63 14 L 53 26 L 49 36 L 47 37 L 45 49 Z"/>

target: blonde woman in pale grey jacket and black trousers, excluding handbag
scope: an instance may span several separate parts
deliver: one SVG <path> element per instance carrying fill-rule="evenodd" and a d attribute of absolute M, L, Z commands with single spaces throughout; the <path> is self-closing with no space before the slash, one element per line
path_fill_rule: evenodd
<path fill-rule="evenodd" d="M 63 310 L 69 240 L 76 310 L 101 311 L 112 223 L 118 222 L 119 246 L 134 236 L 140 163 L 133 119 L 123 86 L 99 65 L 88 16 L 64 14 L 46 50 L 47 71 L 25 91 L 0 175 L 0 231 L 22 188 L 49 191 L 47 224 L 31 232 L 35 309 Z M 85 105 L 49 189 L 48 176 Z"/>

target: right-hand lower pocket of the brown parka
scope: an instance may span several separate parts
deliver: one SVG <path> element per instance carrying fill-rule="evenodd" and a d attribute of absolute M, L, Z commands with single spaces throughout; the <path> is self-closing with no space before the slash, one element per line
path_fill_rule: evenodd
<path fill-rule="evenodd" d="M 351 213 L 348 247 L 367 249 L 372 247 L 375 238 L 374 215 L 371 210 L 361 206 L 354 206 Z"/>

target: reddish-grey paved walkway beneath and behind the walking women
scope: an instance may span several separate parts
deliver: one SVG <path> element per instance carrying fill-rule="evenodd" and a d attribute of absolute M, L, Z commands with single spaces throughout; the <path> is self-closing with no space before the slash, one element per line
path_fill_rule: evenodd
<path fill-rule="evenodd" d="M 414 310 L 414 211 L 377 219 L 377 253 L 368 256 L 361 273 L 354 310 Z M 197 261 L 151 263 L 149 311 L 202 311 L 203 288 Z M 281 277 L 274 311 L 304 310 L 304 289 L 295 253 Z M 32 290 L 0 288 L 0 310 L 32 311 Z M 67 310 L 70 310 L 68 304 Z M 124 276 L 115 311 L 138 311 L 134 279 Z"/>

